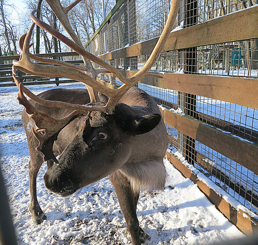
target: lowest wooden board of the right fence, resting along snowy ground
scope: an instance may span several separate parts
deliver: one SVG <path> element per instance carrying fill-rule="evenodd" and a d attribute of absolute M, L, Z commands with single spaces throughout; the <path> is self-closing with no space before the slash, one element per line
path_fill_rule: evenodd
<path fill-rule="evenodd" d="M 258 222 L 243 210 L 236 210 L 225 199 L 198 179 L 197 175 L 187 168 L 181 161 L 169 152 L 166 152 L 168 160 L 186 177 L 197 184 L 204 195 L 219 209 L 228 220 L 245 234 L 257 232 Z"/>

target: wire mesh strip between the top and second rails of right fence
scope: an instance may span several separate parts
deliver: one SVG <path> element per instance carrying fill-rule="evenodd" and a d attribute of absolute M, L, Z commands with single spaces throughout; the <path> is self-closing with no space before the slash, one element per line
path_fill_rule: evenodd
<path fill-rule="evenodd" d="M 184 59 L 186 54 L 187 58 Z M 139 55 L 117 60 L 120 60 L 119 68 L 139 70 L 148 58 L 149 55 Z M 196 63 L 193 64 L 193 61 Z M 190 74 L 258 78 L 258 39 L 162 52 L 150 70 L 180 72 L 183 68 L 182 71 L 185 71 L 184 62 Z"/>

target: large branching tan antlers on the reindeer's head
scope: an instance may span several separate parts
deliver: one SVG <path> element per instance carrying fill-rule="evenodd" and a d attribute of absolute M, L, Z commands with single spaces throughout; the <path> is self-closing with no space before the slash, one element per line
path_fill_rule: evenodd
<path fill-rule="evenodd" d="M 32 127 L 32 132 L 39 141 L 39 146 L 36 147 L 36 150 L 41 151 L 44 154 L 45 156 L 44 160 L 52 159 L 53 161 L 58 162 L 54 157 L 54 154 L 52 151 L 50 151 L 51 154 L 47 153 L 46 147 L 53 147 L 54 140 L 56 140 L 58 133 L 62 130 L 62 128 L 64 128 L 67 124 L 69 124 L 75 117 L 77 117 L 79 114 L 85 111 L 101 111 L 107 114 L 112 114 L 114 113 L 116 104 L 119 102 L 122 96 L 139 80 L 141 80 L 146 76 L 163 77 L 153 73 L 148 73 L 148 71 L 151 68 L 151 66 L 154 64 L 155 60 L 158 58 L 166 42 L 167 37 L 170 34 L 170 31 L 173 27 L 174 21 L 178 13 L 180 1 L 174 0 L 172 2 L 166 25 L 159 38 L 158 43 L 156 44 L 153 52 L 151 53 L 150 57 L 148 58 L 143 68 L 140 69 L 140 71 L 138 71 L 135 75 L 133 75 L 130 78 L 125 78 L 118 69 L 114 68 L 113 66 L 109 65 L 107 62 L 101 60 L 100 58 L 96 57 L 95 55 L 83 49 L 81 42 L 73 32 L 67 17 L 68 11 L 77 3 L 79 3 L 81 0 L 76 0 L 66 8 L 62 7 L 59 0 L 46 0 L 46 1 L 50 5 L 51 9 L 54 11 L 54 13 L 60 20 L 61 24 L 66 29 L 66 31 L 72 37 L 74 42 L 71 41 L 69 38 L 65 37 L 64 35 L 62 35 L 54 28 L 44 23 L 43 21 L 36 18 L 34 16 L 35 11 L 33 11 L 30 17 L 32 18 L 34 23 L 29 29 L 29 32 L 27 34 L 22 35 L 19 40 L 19 45 L 21 46 L 23 53 L 19 61 L 13 61 L 13 79 L 16 85 L 19 87 L 18 100 L 20 104 L 22 104 L 25 107 L 26 113 L 35 122 L 36 131 Z M 84 57 L 84 67 L 71 65 L 63 61 L 39 58 L 33 54 L 30 54 L 29 42 L 30 42 L 30 38 L 35 24 L 43 28 L 45 31 L 49 32 L 52 36 L 61 40 L 67 46 L 69 46 L 78 54 L 80 54 L 82 57 Z M 34 59 L 35 61 L 61 65 L 61 66 L 40 65 L 35 62 L 32 62 L 30 58 Z M 91 65 L 91 62 L 88 59 L 101 65 L 104 69 L 100 69 L 100 70 L 94 69 Z M 109 97 L 109 100 L 105 106 L 94 106 L 92 104 L 76 105 L 76 104 L 71 104 L 67 102 L 50 101 L 50 100 L 39 98 L 38 96 L 30 92 L 27 88 L 25 88 L 21 84 L 21 82 L 15 77 L 16 67 L 21 71 L 32 75 L 64 77 L 64 78 L 70 78 L 70 79 L 80 81 L 86 85 L 91 98 L 91 102 L 98 100 L 95 96 L 96 91 L 99 91 L 104 95 L 107 95 Z M 111 72 L 124 84 L 118 89 L 111 89 L 111 88 L 105 87 L 104 85 L 96 81 L 96 76 L 97 74 L 99 74 L 99 72 Z M 73 110 L 73 112 L 61 119 L 52 118 L 46 113 L 43 113 L 37 110 L 34 106 L 32 106 L 30 102 L 26 99 L 24 94 L 40 105 L 65 108 L 68 110 Z M 46 142 L 48 142 L 48 144 L 46 144 Z"/>

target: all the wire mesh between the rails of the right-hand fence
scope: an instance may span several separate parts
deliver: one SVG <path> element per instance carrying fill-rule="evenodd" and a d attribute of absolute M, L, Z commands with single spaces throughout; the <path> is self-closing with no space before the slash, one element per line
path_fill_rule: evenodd
<path fill-rule="evenodd" d="M 188 0 L 181 1 L 174 28 L 186 28 L 228 13 L 258 4 L 257 1 Z M 166 22 L 170 1 L 128 0 L 89 43 L 96 55 L 131 46 L 160 35 Z M 107 62 L 125 70 L 139 70 L 149 54 L 124 57 Z M 211 76 L 258 78 L 258 39 L 170 50 L 159 55 L 151 71 L 189 73 Z M 94 64 L 95 67 L 98 65 Z M 112 74 L 99 77 L 115 86 L 122 83 Z M 258 81 L 257 81 L 258 85 Z M 135 86 L 150 94 L 155 101 L 173 111 L 187 114 L 210 127 L 250 144 L 258 143 L 258 109 L 218 99 L 186 94 L 143 83 Z M 181 154 L 215 184 L 257 214 L 258 176 L 249 169 L 220 154 L 202 142 L 166 125 L 169 149 Z M 234 150 L 234 149 L 232 149 Z"/>

